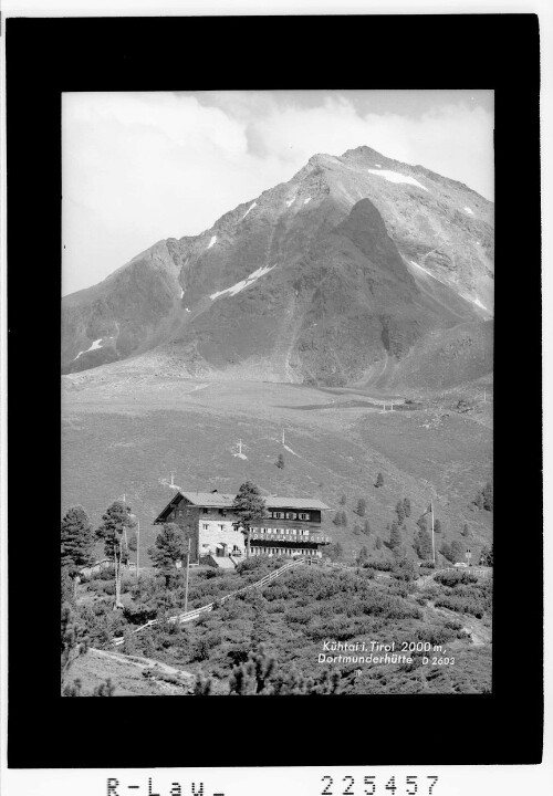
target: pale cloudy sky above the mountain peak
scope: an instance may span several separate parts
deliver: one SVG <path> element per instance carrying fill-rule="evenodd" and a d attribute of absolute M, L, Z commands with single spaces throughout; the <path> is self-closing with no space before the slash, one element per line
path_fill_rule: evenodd
<path fill-rule="evenodd" d="M 491 91 L 65 93 L 63 294 L 363 145 L 493 199 Z"/>

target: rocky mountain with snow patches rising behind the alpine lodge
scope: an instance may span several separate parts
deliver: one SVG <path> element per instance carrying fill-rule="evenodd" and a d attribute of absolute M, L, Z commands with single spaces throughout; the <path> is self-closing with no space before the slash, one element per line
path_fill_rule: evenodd
<path fill-rule="evenodd" d="M 492 221 L 491 202 L 421 166 L 316 154 L 64 298 L 62 373 L 152 352 L 182 376 L 343 386 L 388 357 L 411 373 L 432 331 L 492 317 Z"/>

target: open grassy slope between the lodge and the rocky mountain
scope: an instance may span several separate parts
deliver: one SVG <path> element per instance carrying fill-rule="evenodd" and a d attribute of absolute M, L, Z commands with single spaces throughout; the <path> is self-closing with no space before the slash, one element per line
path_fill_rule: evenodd
<path fill-rule="evenodd" d="M 184 490 L 233 492 L 250 480 L 265 494 L 317 498 L 345 513 L 346 525 L 335 525 L 325 512 L 323 533 L 352 561 L 363 546 L 374 559 L 389 558 L 385 543 L 404 499 L 411 504 L 401 530 L 406 555 L 416 557 L 416 522 L 430 500 L 441 525 L 438 551 L 442 542 L 465 543 L 465 525 L 473 561 L 491 544 L 492 515 L 472 504 L 491 479 L 490 404 L 474 400 L 461 413 L 458 396 L 446 395 L 383 413 L 382 396 L 371 402 L 359 392 L 363 406 L 351 406 L 351 390 L 334 391 L 330 402 L 327 390 L 303 385 L 127 385 L 106 376 L 88 386 L 85 378 L 64 377 L 62 506 L 82 504 L 97 523 L 125 494 L 140 521 L 145 565 L 157 533 L 152 523 L 175 493 L 171 471 Z M 299 408 L 306 405 L 314 408 Z M 239 440 L 246 459 L 236 455 Z M 378 473 L 384 482 L 376 488 Z M 359 499 L 363 516 L 355 511 Z"/>

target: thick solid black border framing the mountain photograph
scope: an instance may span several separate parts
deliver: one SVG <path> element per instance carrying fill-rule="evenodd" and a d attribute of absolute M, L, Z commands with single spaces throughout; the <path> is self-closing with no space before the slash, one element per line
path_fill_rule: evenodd
<path fill-rule="evenodd" d="M 538 17 L 12 18 L 6 35 L 10 767 L 228 766 L 246 750 L 259 766 L 539 763 L 542 417 L 534 400 L 520 419 L 511 397 L 522 357 L 525 394 L 541 394 Z M 232 698 L 62 700 L 61 93 L 286 87 L 495 92 L 493 693 L 247 699 L 239 711 Z M 307 726 L 296 737 L 294 722 L 291 743 L 255 741 L 294 710 Z"/>

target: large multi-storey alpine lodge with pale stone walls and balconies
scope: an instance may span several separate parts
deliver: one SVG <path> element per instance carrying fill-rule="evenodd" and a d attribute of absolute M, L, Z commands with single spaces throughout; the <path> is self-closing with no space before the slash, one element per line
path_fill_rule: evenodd
<path fill-rule="evenodd" d="M 246 534 L 232 512 L 233 494 L 177 492 L 156 517 L 155 525 L 176 523 L 190 538 L 190 561 L 205 556 L 246 555 Z M 265 498 L 267 516 L 250 528 L 251 555 L 322 556 L 331 543 L 322 534 L 322 512 L 328 509 L 315 498 Z"/>

